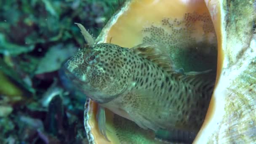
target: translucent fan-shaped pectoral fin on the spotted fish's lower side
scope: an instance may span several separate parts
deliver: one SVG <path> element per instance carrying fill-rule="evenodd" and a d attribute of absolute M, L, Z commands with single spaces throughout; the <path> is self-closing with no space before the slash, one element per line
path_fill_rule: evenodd
<path fill-rule="evenodd" d="M 129 94 L 132 95 L 133 100 L 128 101 L 123 109 L 137 125 L 141 128 L 149 128 L 154 131 L 170 125 L 170 123 L 163 123 L 165 120 L 159 119 L 159 116 L 168 118 L 172 115 L 171 113 L 175 115 L 175 112 L 171 112 L 171 109 L 161 109 L 160 103 L 153 104 L 154 101 L 157 101 L 154 97 L 154 92 L 137 90 Z M 157 111 L 157 114 L 155 111 Z"/>

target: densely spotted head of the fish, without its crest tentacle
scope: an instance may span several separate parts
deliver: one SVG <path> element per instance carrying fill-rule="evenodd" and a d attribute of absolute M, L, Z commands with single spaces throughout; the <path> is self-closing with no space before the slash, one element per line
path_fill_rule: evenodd
<path fill-rule="evenodd" d="M 67 77 L 93 101 L 112 101 L 128 86 L 124 49 L 108 43 L 80 49 L 65 64 Z"/>

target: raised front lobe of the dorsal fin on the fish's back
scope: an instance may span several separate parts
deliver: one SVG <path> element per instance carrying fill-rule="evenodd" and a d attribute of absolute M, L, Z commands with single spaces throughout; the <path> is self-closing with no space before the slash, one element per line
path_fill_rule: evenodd
<path fill-rule="evenodd" d="M 168 51 L 164 45 L 143 43 L 131 48 L 131 50 L 135 54 L 154 62 L 159 67 L 162 67 L 166 72 L 175 72 L 171 56 L 169 56 Z"/>

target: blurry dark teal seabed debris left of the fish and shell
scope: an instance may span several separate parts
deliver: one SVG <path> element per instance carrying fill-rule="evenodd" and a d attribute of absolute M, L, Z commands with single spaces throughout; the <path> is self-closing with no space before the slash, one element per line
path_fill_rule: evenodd
<path fill-rule="evenodd" d="M 87 144 L 86 96 L 62 65 L 94 37 L 118 0 L 0 0 L 0 143 Z"/>

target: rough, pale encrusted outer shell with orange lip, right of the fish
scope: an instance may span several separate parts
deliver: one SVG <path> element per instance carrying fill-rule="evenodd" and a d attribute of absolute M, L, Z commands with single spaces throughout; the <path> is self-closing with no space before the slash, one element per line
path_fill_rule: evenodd
<path fill-rule="evenodd" d="M 205 1 L 218 39 L 218 71 L 195 143 L 256 143 L 255 1 Z"/>

